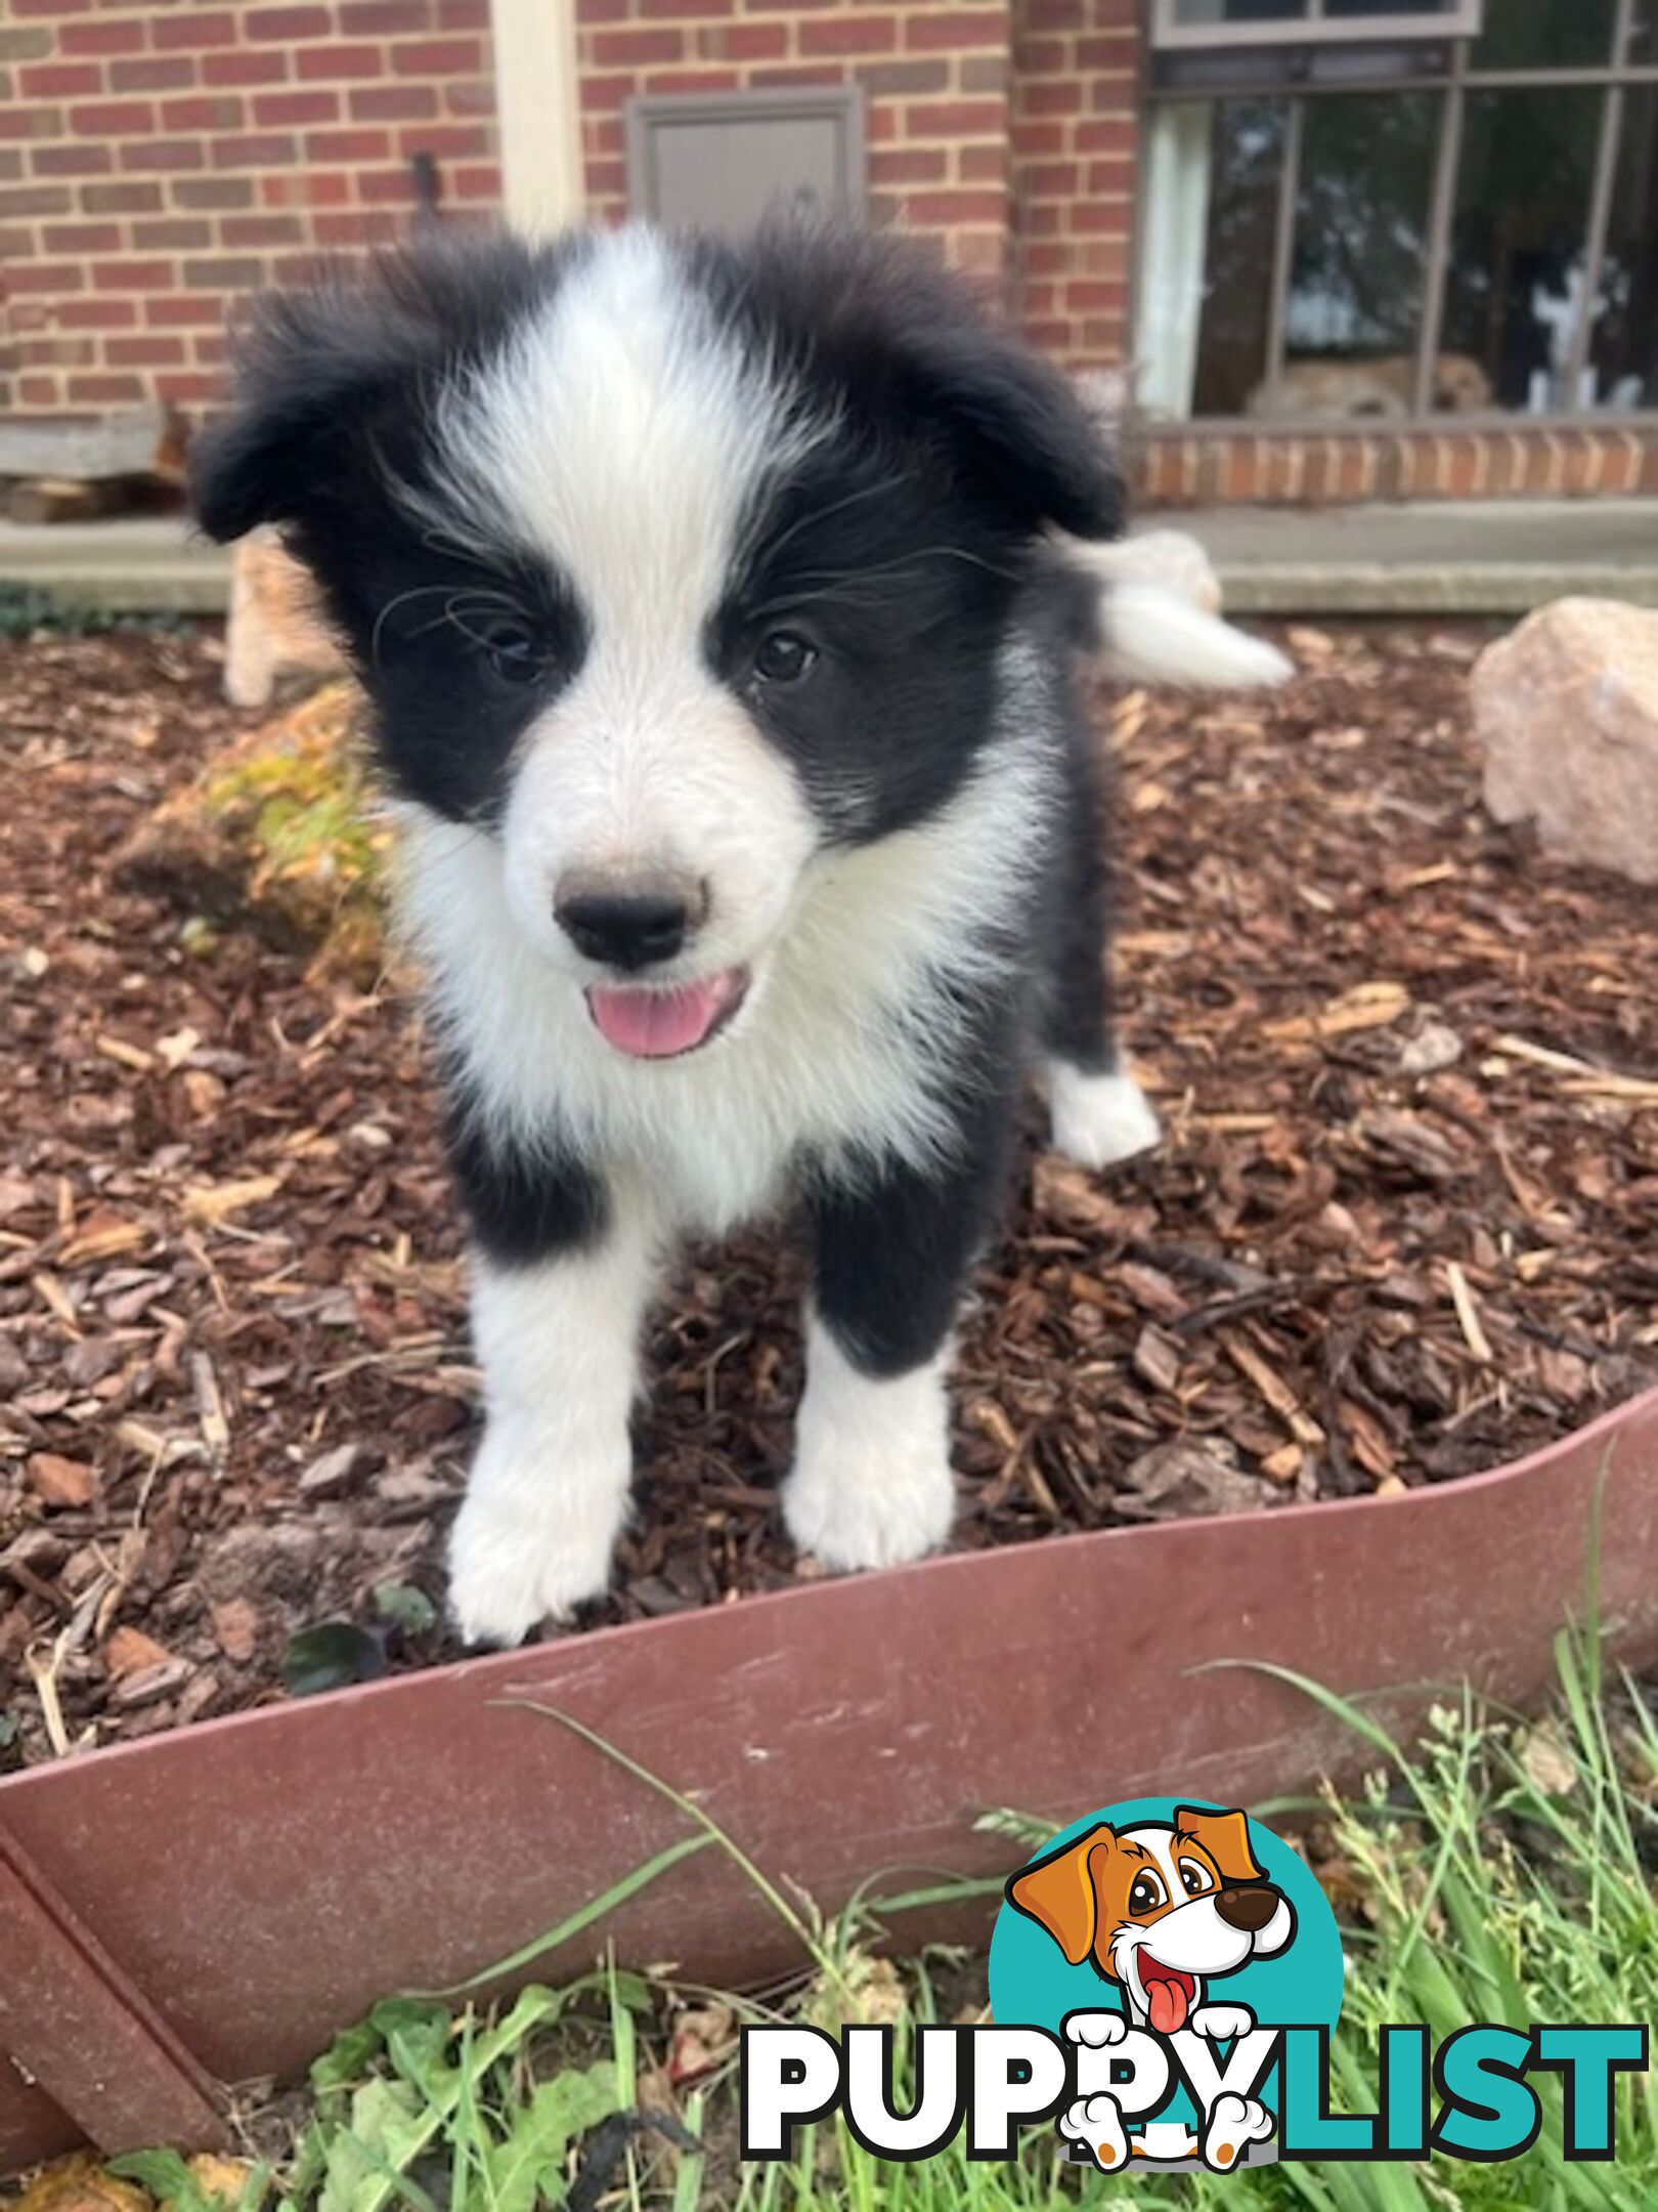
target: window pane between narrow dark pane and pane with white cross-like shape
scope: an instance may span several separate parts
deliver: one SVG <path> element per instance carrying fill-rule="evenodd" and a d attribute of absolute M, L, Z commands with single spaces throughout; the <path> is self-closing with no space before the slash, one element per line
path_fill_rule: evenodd
<path fill-rule="evenodd" d="M 1284 374 L 1249 414 L 1408 414 L 1437 139 L 1435 93 L 1307 102 Z"/>

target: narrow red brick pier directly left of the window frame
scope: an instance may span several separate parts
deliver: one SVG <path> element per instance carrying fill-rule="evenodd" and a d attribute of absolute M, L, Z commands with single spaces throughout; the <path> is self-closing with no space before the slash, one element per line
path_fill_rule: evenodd
<path fill-rule="evenodd" d="M 1030 343 L 1072 369 L 1130 349 L 1141 18 L 1141 0 L 1019 0 L 1019 312 Z"/>

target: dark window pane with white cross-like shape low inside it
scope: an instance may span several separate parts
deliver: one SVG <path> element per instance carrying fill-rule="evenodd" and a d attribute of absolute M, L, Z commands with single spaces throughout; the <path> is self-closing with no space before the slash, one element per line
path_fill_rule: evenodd
<path fill-rule="evenodd" d="M 1603 97 L 1468 95 L 1435 405 L 1466 409 L 1483 383 L 1497 407 L 1567 411 Z"/>

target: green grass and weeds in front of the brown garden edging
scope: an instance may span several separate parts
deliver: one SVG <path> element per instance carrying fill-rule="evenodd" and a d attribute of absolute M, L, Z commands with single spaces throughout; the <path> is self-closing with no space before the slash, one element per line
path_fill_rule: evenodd
<path fill-rule="evenodd" d="M 1360 1710 L 1322 1699 L 1375 1759 L 1368 1785 L 1322 1807 L 1333 1849 L 1320 1874 L 1342 1916 L 1349 1982 L 1333 2073 L 1337 2108 L 1366 2110 L 1375 2031 L 1426 2022 L 1435 2039 L 1470 2020 L 1651 2020 L 1658 1997 L 1658 1710 L 1629 1679 L 1605 1681 L 1583 1637 L 1561 1637 L 1559 1697 L 1525 1723 L 1461 1699 L 1433 1714 L 1406 1759 Z M 1543 2137 L 1510 2166 L 1287 2163 L 1234 2174 L 1079 2174 L 1048 2128 L 1017 2163 L 959 2150 L 915 2166 L 864 2152 L 836 2124 L 807 2130 L 787 2163 L 745 2166 L 736 2146 L 732 2035 L 738 2020 L 893 2020 L 913 2031 L 957 2017 L 959 1955 L 928 1951 L 902 1969 L 875 1955 L 902 1898 L 862 1900 L 833 1922 L 780 1893 L 701 1807 L 577 1723 L 641 1783 L 683 1812 L 690 1834 L 634 1869 L 511 1964 L 522 1971 L 604 1922 L 628 1893 L 696 1849 L 730 1854 L 800 1944 L 802 1975 L 767 2004 L 665 1991 L 615 1966 L 568 1989 L 533 1986 L 502 2006 L 464 1991 L 393 1997 L 318 2059 L 312 2117 L 296 2152 L 254 2172 L 256 2199 L 287 2212 L 533 2212 L 595 2205 L 630 2212 L 1026 2212 L 1035 2205 L 1185 2205 L 1194 2212 L 1634 2212 L 1658 2203 L 1658 2088 L 1618 2088 L 1616 2166 L 1561 2157 L 1559 2097 L 1541 2084 Z M 1039 1823 L 993 1814 L 1008 1863 L 1041 1840 Z M 973 1885 L 984 1891 L 990 1885 Z M 937 1891 L 935 1891 L 937 1893 Z M 701 2006 L 723 2042 L 683 2110 L 661 2059 L 674 2006 Z M 659 2115 L 661 2124 L 641 2119 Z M 137 2179 L 146 2179 L 137 2174 Z M 199 2212 L 188 2201 L 179 2212 Z"/>

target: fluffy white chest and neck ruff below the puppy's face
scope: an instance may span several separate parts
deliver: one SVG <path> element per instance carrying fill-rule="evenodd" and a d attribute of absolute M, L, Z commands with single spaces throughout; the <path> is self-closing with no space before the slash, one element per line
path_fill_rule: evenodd
<path fill-rule="evenodd" d="M 1015 666 L 1008 721 L 1019 681 Z M 1019 732 L 926 823 L 814 858 L 769 942 L 721 940 L 707 964 L 752 958 L 754 987 L 683 1060 L 604 1042 L 579 984 L 517 927 L 500 845 L 478 830 L 400 810 L 400 914 L 484 1128 L 599 1172 L 648 1168 L 663 1228 L 718 1232 L 778 1203 L 802 1146 L 849 1175 L 948 1152 L 959 991 L 1006 958 L 1021 852 L 1052 803 L 1052 763 Z"/>

